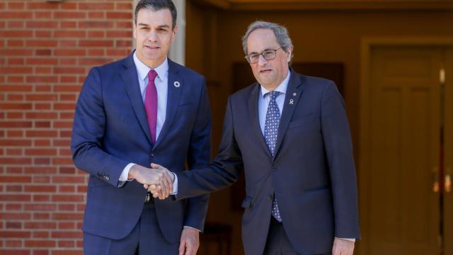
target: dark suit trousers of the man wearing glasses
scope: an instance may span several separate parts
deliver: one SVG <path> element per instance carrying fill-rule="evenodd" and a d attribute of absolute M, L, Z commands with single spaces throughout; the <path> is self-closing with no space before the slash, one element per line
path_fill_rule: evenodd
<path fill-rule="evenodd" d="M 330 255 L 319 254 L 319 255 Z M 266 240 L 266 246 L 263 255 L 315 255 L 315 254 L 299 254 L 294 250 L 291 242 L 289 242 L 288 236 L 283 228 L 282 223 L 275 220 L 275 217 L 271 216 L 270 227 L 268 233 L 268 239 Z M 318 254 L 316 254 L 318 255 Z"/>

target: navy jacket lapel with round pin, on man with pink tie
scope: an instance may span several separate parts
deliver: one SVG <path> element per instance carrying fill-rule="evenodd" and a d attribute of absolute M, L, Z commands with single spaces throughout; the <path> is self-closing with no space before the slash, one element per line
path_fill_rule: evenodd
<path fill-rule="evenodd" d="M 175 117 L 176 110 L 179 106 L 179 99 L 181 96 L 181 91 L 184 86 L 183 77 L 178 77 L 179 67 L 178 65 L 168 59 L 168 96 L 167 96 L 167 110 L 165 116 L 164 126 L 162 127 L 159 137 L 157 137 L 156 144 L 154 147 L 157 147 L 161 141 L 164 139 L 164 136 L 168 132 L 173 118 Z"/>

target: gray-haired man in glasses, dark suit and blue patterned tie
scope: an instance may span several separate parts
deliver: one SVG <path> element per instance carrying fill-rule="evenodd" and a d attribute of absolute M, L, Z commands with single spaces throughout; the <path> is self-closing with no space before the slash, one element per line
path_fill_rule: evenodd
<path fill-rule="evenodd" d="M 219 154 L 176 173 L 176 197 L 218 191 L 243 170 L 246 254 L 351 255 L 360 231 L 343 98 L 333 81 L 290 69 L 292 50 L 286 28 L 251 23 L 243 51 L 258 82 L 229 97 Z"/>

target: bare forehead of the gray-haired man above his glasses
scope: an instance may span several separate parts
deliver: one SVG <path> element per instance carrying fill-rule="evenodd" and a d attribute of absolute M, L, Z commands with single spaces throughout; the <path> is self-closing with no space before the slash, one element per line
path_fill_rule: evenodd
<path fill-rule="evenodd" d="M 280 47 L 275 38 L 273 30 L 267 28 L 258 28 L 253 30 L 247 38 L 248 52 L 261 52 L 267 49 Z"/>

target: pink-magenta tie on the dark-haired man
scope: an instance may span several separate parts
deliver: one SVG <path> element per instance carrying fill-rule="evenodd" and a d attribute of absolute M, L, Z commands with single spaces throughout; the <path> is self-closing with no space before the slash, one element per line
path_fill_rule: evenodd
<path fill-rule="evenodd" d="M 157 123 L 157 90 L 154 79 L 157 73 L 153 69 L 148 73 L 148 86 L 144 95 L 144 111 L 147 113 L 149 131 L 151 131 L 151 140 L 156 142 L 156 123 Z"/>

